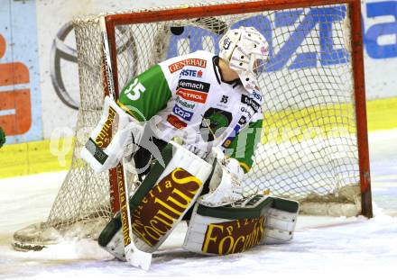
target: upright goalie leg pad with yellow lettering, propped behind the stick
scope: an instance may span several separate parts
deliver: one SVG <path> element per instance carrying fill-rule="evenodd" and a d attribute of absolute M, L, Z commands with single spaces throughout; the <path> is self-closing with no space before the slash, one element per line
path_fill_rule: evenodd
<path fill-rule="evenodd" d="M 137 248 L 152 253 L 171 234 L 183 215 L 196 202 L 212 166 L 171 141 L 163 150 L 165 166 L 157 162 L 129 199 Z M 120 214 L 110 221 L 98 243 L 124 259 Z"/>

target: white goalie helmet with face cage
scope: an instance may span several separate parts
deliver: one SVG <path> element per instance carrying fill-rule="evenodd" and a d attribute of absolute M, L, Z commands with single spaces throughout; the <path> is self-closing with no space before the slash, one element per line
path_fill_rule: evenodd
<path fill-rule="evenodd" d="M 258 68 L 269 58 L 269 44 L 254 27 L 226 32 L 219 41 L 219 57 L 237 72 L 248 92 L 259 89 Z"/>

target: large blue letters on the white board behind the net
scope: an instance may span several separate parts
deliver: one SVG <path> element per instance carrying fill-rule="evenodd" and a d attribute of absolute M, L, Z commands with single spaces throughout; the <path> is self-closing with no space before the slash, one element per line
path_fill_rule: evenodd
<path fill-rule="evenodd" d="M 392 23 L 375 23 L 367 30 L 365 30 L 363 20 L 363 37 L 368 56 L 371 59 L 397 58 L 397 1 L 366 3 L 365 5 L 366 14 L 364 16 L 368 19 L 387 15 L 394 18 Z M 303 19 L 300 19 L 298 28 L 294 29 L 288 40 L 283 42 L 281 49 L 277 52 L 273 50 L 276 42 L 273 41 L 272 29 L 295 25 L 301 14 L 302 10 L 277 11 L 273 15 L 273 22 L 266 16 L 257 15 L 235 23 L 232 28 L 254 26 L 269 41 L 271 61 L 268 64 L 270 67 L 266 68 L 265 71 L 277 71 L 283 68 L 294 55 L 296 55 L 296 58 L 288 66 L 289 68 L 314 68 L 317 67 L 317 63 L 321 65 L 346 63 L 348 52 L 344 48 L 334 49 L 331 39 L 332 23 L 342 22 L 346 18 L 345 5 L 310 9 L 309 13 L 305 14 Z M 258 25 L 258 23 L 261 23 L 261 25 Z M 315 28 L 319 31 L 319 52 L 296 53 L 304 39 Z M 396 36 L 396 40 L 391 43 L 380 44 L 379 38 L 384 35 Z M 167 58 L 179 55 L 177 49 L 180 41 L 189 41 L 189 51 L 202 50 L 204 38 L 206 40 L 209 38 L 214 42 L 214 52 L 219 50 L 217 46 L 218 35 L 199 27 L 186 27 L 180 35 L 172 35 L 171 48 Z"/>

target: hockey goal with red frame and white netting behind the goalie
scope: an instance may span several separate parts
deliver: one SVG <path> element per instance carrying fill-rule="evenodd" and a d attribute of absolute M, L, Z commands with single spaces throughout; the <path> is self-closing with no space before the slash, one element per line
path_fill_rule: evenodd
<path fill-rule="evenodd" d="M 107 88 L 101 18 L 115 93 L 163 59 L 195 50 L 217 53 L 227 29 L 254 26 L 269 42 L 270 59 L 258 78 L 263 133 L 245 194 L 269 189 L 300 201 L 303 213 L 371 217 L 360 5 L 234 1 L 76 19 L 81 100 L 72 164 L 48 221 L 15 232 L 14 247 L 95 239 L 118 209 L 115 170 L 97 175 L 78 156 L 97 125 Z M 134 175 L 127 177 L 131 187 Z"/>

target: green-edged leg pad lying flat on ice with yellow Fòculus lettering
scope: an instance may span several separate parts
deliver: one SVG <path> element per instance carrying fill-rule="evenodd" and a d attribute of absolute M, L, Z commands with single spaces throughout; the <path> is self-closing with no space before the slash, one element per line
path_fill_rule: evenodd
<path fill-rule="evenodd" d="M 263 194 L 217 208 L 198 202 L 183 248 L 204 255 L 227 255 L 264 244 L 266 221 L 274 209 L 297 213 L 299 203 Z"/>

